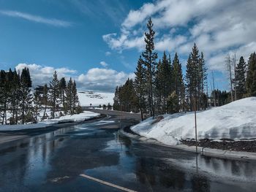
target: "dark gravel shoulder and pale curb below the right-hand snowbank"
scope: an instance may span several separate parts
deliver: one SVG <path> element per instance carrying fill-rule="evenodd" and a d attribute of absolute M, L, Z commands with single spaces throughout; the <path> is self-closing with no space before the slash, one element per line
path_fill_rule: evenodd
<path fill-rule="evenodd" d="M 178 150 L 187 150 L 194 153 L 200 153 L 200 155 L 211 156 L 216 158 L 227 158 L 236 160 L 256 160 L 256 141 L 211 141 L 208 139 L 203 139 L 198 142 L 198 147 L 196 147 L 196 142 L 192 140 L 184 140 L 181 145 L 165 145 L 155 139 L 149 139 L 146 137 L 141 137 L 132 131 L 129 127 L 123 128 L 118 131 L 121 136 L 130 137 L 132 139 L 137 139 L 142 142 L 148 142 L 155 145 L 161 145 L 165 147 L 170 147 Z"/>

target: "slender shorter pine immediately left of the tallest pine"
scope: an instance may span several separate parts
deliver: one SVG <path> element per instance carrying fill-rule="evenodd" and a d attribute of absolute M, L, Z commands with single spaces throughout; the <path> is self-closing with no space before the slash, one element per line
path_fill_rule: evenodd
<path fill-rule="evenodd" d="M 116 93 L 118 92 L 118 88 L 116 88 Z M 115 100 L 118 100 L 118 97 L 116 96 L 114 98 L 114 104 Z M 146 108 L 146 101 L 145 101 L 145 95 L 146 95 L 146 80 L 145 80 L 145 69 L 143 68 L 143 60 L 140 56 L 138 60 L 138 64 L 136 67 L 135 72 L 135 93 L 138 97 L 139 101 L 139 108 L 140 108 L 140 117 L 141 120 L 143 120 L 143 112 L 145 112 Z"/>

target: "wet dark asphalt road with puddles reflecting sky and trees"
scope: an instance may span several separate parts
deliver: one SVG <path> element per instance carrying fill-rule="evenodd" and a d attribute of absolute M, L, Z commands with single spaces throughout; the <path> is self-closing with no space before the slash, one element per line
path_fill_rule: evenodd
<path fill-rule="evenodd" d="M 119 126 L 112 114 L 1 144 L 0 191 L 120 191 L 80 174 L 135 191 L 256 191 L 255 161 L 149 145 L 118 137 Z"/>

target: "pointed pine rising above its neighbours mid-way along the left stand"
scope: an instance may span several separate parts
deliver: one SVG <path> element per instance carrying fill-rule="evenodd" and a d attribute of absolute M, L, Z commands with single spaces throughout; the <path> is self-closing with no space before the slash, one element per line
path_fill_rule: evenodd
<path fill-rule="evenodd" d="M 56 71 L 53 74 L 53 80 L 50 81 L 49 97 L 52 105 L 52 117 L 54 119 L 55 112 L 59 106 L 59 80 Z"/>

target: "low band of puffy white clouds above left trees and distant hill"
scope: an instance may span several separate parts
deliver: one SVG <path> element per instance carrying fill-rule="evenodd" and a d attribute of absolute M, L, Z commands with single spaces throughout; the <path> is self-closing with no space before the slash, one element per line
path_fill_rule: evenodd
<path fill-rule="evenodd" d="M 103 61 L 104 62 L 104 61 Z M 56 70 L 59 79 L 69 77 L 77 81 L 79 90 L 107 91 L 113 92 L 116 85 L 123 84 L 127 78 L 134 78 L 134 73 L 117 72 L 113 69 L 92 68 L 85 74 L 78 74 L 76 70 L 65 67 L 54 68 L 53 66 L 41 66 L 37 64 L 18 64 L 15 66 L 17 72 L 24 68 L 29 68 L 33 87 L 49 83 L 53 78 L 53 72 Z"/>

